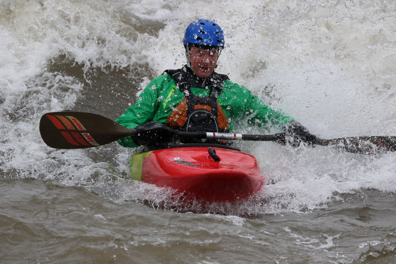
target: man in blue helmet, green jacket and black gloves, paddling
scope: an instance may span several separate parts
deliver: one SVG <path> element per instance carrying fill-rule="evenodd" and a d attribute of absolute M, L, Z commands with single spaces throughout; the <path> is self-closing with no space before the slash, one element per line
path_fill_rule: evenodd
<path fill-rule="evenodd" d="M 164 124 L 179 131 L 228 133 L 233 123 L 248 120 L 250 125 L 283 126 L 286 137 L 280 139 L 280 143 L 287 141 L 296 147 L 303 141 L 312 146 L 315 136 L 300 123 L 271 109 L 246 87 L 231 82 L 227 75 L 215 72 L 224 44 L 219 25 L 208 19 L 196 19 L 188 25 L 183 38 L 187 65 L 166 70 L 154 78 L 116 122 L 136 128 L 143 135 Z M 171 141 L 171 137 L 165 129 L 164 142 Z M 191 139 L 181 139 L 181 142 L 191 142 Z M 202 140 L 193 142 L 202 143 Z M 125 137 L 118 143 L 137 147 L 156 142 L 137 136 Z"/>

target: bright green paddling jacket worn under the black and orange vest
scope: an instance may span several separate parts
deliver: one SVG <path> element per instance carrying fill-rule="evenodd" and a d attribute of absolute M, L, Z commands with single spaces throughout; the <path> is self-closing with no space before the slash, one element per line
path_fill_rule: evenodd
<path fill-rule="evenodd" d="M 191 87 L 194 95 L 209 96 L 209 89 Z M 169 74 L 160 75 L 152 80 L 137 98 L 135 104 L 129 107 L 124 114 L 117 118 L 116 122 L 128 128 L 144 125 L 147 122 L 165 123 L 169 114 L 183 100 L 183 92 L 176 89 L 175 81 Z M 217 99 L 221 109 L 224 111 L 232 131 L 232 123 L 239 120 L 255 120 L 262 123 L 271 122 L 271 125 L 283 125 L 289 120 L 279 111 L 272 110 L 265 105 L 257 96 L 253 95 L 246 87 L 224 80 L 223 90 Z M 124 137 L 117 141 L 124 147 L 137 147 L 131 137 Z"/>

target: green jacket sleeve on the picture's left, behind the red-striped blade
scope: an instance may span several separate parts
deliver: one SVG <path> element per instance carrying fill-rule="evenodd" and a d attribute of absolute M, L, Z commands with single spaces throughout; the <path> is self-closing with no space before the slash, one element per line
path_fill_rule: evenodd
<path fill-rule="evenodd" d="M 158 77 L 157 77 L 158 78 Z M 151 122 L 153 116 L 158 108 L 158 91 L 160 85 L 155 78 L 152 80 L 143 92 L 136 99 L 135 104 L 129 107 L 124 114 L 116 119 L 116 123 L 128 128 L 135 128 L 138 125 L 144 125 L 147 122 Z M 124 137 L 119 139 L 118 144 L 124 147 L 135 148 L 136 145 L 131 137 Z"/>

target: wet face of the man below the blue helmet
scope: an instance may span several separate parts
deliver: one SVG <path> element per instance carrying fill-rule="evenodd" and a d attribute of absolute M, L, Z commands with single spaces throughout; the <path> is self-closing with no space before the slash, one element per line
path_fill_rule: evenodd
<path fill-rule="evenodd" d="M 196 76 L 208 78 L 215 70 L 219 49 L 202 49 L 190 46 L 191 69 Z"/>

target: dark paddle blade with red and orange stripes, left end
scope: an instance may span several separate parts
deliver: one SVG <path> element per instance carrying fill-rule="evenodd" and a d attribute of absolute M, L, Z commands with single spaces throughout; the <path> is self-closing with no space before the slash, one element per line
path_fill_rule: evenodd
<path fill-rule="evenodd" d="M 98 114 L 70 111 L 44 114 L 40 135 L 51 148 L 77 149 L 109 144 L 136 135 L 136 130 Z"/>

